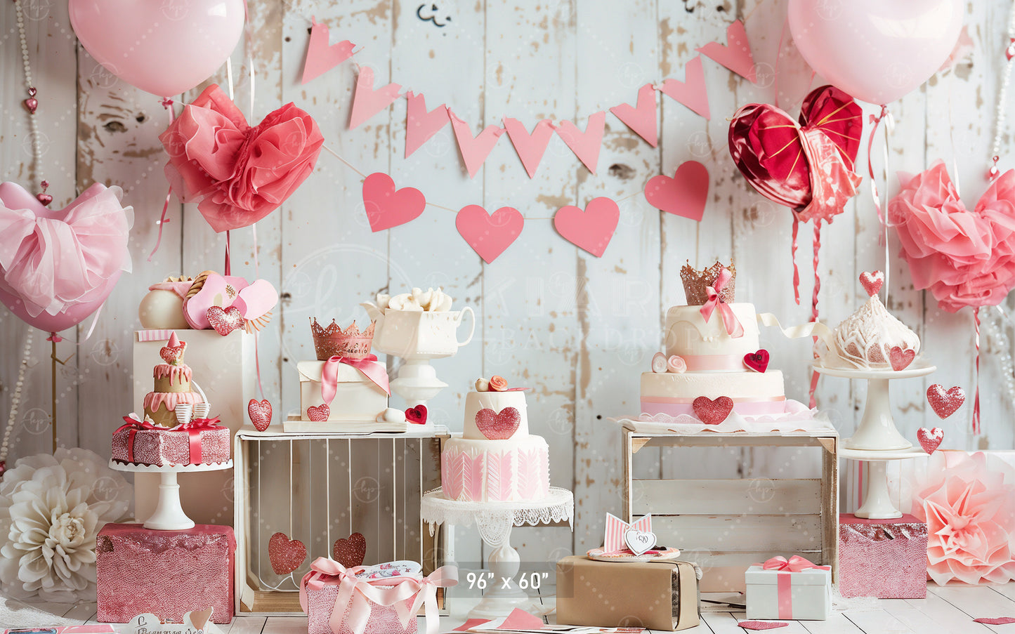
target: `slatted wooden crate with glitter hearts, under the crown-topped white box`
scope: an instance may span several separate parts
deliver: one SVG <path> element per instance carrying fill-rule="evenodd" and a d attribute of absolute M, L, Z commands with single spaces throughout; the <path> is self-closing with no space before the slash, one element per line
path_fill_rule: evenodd
<path fill-rule="evenodd" d="M 444 563 L 443 533 L 419 517 L 422 494 L 441 486 L 445 427 L 365 435 L 259 432 L 244 428 L 233 443 L 238 615 L 300 615 L 298 583 L 337 539 L 366 538 L 364 563 L 408 559 L 428 574 Z M 298 539 L 307 559 L 276 575 L 268 540 Z M 443 598 L 443 592 L 442 592 Z"/>

